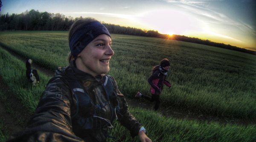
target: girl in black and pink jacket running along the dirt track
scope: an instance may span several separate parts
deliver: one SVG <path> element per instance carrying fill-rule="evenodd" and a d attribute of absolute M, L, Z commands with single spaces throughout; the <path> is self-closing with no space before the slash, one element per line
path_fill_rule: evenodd
<path fill-rule="evenodd" d="M 163 84 L 171 87 L 169 81 L 166 80 L 167 72 L 170 69 L 170 61 L 167 58 L 164 58 L 160 61 L 160 65 L 153 67 L 152 75 L 148 78 L 148 83 L 150 84 L 151 97 L 147 95 L 142 95 L 140 92 L 137 92 L 135 97 L 143 97 L 146 100 L 151 102 L 156 102 L 154 110 L 157 110 L 160 106 L 160 94 L 163 91 Z"/>

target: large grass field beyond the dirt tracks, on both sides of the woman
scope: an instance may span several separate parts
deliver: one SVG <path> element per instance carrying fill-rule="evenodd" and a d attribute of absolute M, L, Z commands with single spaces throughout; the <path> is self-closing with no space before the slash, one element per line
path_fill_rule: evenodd
<path fill-rule="evenodd" d="M 150 95 L 153 66 L 169 58 L 171 69 L 162 106 L 230 117 L 256 118 L 256 56 L 206 45 L 112 34 L 110 75 L 127 97 Z M 65 66 L 67 32 L 0 33 L 0 44 L 54 70 Z"/>

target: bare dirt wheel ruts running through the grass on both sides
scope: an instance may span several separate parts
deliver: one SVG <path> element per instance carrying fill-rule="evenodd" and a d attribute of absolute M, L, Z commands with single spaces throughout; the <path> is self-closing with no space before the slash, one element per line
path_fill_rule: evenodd
<path fill-rule="evenodd" d="M 4 48 L 5 49 L 5 48 Z M 6 49 L 7 50 L 7 49 Z M 9 53 L 11 53 L 13 56 L 19 58 L 21 61 L 26 62 L 26 58 L 23 58 L 16 53 L 13 53 L 10 50 Z M 45 69 L 44 67 L 40 67 L 36 64 L 32 64 L 32 67 L 39 70 L 40 72 L 44 72 L 47 75 L 54 75 L 54 71 L 50 71 Z M 15 95 L 8 89 L 8 86 L 4 84 L 2 81 L 2 78 L 0 77 L 0 89 L 1 92 L 3 92 L 4 95 L 7 96 L 7 101 L 10 103 L 10 107 L 8 109 L 11 109 L 12 113 L 5 108 L 5 103 L 0 101 L 0 118 L 1 120 L 4 120 L 6 124 L 6 128 L 10 133 L 14 133 L 17 131 L 20 131 L 24 125 L 26 125 L 27 121 L 31 117 L 32 114 L 28 114 L 27 110 L 24 108 L 24 106 L 20 103 L 19 100 L 15 97 Z M 134 99 L 134 98 L 126 98 L 128 106 L 129 107 L 140 107 L 144 109 L 152 109 L 154 106 L 154 103 L 151 103 L 149 101 L 146 101 L 142 98 L 140 99 Z M 193 112 L 189 110 L 182 110 L 179 108 L 163 108 L 160 106 L 160 109 L 157 111 L 160 116 L 167 116 L 167 117 L 173 117 L 178 119 L 188 119 L 188 120 L 198 120 L 198 121 L 214 121 L 221 124 L 239 124 L 239 125 L 249 125 L 249 124 L 256 124 L 256 119 L 237 119 L 237 118 L 227 118 L 227 117 L 217 117 L 209 114 L 202 114 L 200 112 Z M 20 121 L 17 121 L 20 120 Z"/>

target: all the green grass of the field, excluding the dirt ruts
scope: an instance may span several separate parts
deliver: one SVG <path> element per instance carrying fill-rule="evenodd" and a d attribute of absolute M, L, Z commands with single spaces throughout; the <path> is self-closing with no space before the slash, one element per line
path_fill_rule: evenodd
<path fill-rule="evenodd" d="M 108 74 L 116 79 L 120 91 L 126 97 L 133 97 L 137 91 L 150 95 L 147 79 L 151 68 L 159 64 L 161 59 L 169 58 L 171 69 L 167 80 L 172 87 L 163 90 L 162 107 L 178 107 L 225 117 L 256 118 L 256 56 L 206 45 L 140 36 L 112 34 L 112 41 L 115 55 L 111 59 L 111 71 Z M 49 70 L 67 65 L 67 32 L 0 32 L 0 46 L 25 58 L 32 58 L 34 64 Z M 42 80 L 40 85 L 26 87 L 28 83 L 23 72 L 10 70 L 25 70 L 25 63 L 0 49 L 0 75 L 3 81 L 30 111 L 35 111 L 51 76 L 39 71 Z M 141 123 L 147 124 L 148 136 L 154 141 L 256 140 L 256 125 L 177 120 L 136 108 L 131 108 L 131 112 Z M 128 131 L 116 125 L 111 133 L 119 136 L 118 140 L 137 140 L 129 138 Z"/>

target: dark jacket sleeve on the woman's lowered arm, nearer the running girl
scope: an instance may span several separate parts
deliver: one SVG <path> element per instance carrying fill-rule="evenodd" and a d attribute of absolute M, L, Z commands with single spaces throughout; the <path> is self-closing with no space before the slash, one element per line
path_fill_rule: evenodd
<path fill-rule="evenodd" d="M 140 131 L 141 124 L 137 122 L 135 117 L 128 110 L 128 104 L 125 100 L 125 96 L 119 91 L 114 79 L 113 86 L 120 106 L 120 113 L 117 113 L 118 120 L 121 125 L 130 131 L 132 137 L 137 136 Z"/>

